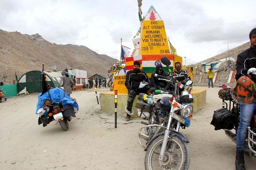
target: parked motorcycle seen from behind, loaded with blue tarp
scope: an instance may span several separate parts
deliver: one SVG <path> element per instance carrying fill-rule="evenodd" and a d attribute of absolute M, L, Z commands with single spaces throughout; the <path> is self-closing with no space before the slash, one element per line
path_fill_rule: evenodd
<path fill-rule="evenodd" d="M 38 95 L 36 114 L 38 114 L 38 125 L 46 127 L 50 122 L 56 121 L 63 130 L 68 130 L 68 122 L 71 117 L 76 117 L 78 104 L 61 88 L 48 90 L 48 93 Z"/>

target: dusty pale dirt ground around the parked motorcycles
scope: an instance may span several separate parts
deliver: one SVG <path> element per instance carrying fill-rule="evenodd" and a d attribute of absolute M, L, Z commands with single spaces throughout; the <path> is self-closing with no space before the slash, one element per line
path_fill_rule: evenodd
<path fill-rule="evenodd" d="M 204 108 L 192 119 L 188 136 L 190 170 L 234 170 L 235 146 L 224 130 L 215 131 L 210 125 L 213 111 L 222 107 L 220 88 L 207 89 Z M 108 89 L 98 89 L 98 93 Z M 37 95 L 8 98 L 0 103 L 0 169 L 144 169 L 145 151 L 137 140 L 141 119 L 125 122 L 100 112 L 93 89 L 75 91 L 80 110 L 69 123 L 68 131 L 51 122 L 37 125 L 35 114 Z M 246 169 L 255 169 L 256 158 L 245 156 Z"/>

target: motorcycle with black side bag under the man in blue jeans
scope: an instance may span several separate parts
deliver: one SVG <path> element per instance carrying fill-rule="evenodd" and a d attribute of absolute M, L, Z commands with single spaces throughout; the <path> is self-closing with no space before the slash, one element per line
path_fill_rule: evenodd
<path fill-rule="evenodd" d="M 251 75 L 251 77 L 256 77 L 256 68 L 249 69 L 247 74 Z M 236 143 L 236 133 L 240 122 L 240 101 L 234 88 L 225 88 L 224 85 L 219 91 L 219 97 L 222 99 L 222 109 L 214 112 L 210 124 L 214 125 L 215 130 L 224 129 L 225 134 Z M 221 111 L 223 113 L 220 113 Z M 218 114 L 220 115 L 218 116 Z M 219 119 L 219 117 L 222 117 L 222 119 Z M 234 133 L 231 131 L 233 129 Z M 252 117 L 250 127 L 248 127 L 248 136 L 246 137 L 245 144 L 244 152 L 250 156 L 256 156 L 256 112 Z"/>

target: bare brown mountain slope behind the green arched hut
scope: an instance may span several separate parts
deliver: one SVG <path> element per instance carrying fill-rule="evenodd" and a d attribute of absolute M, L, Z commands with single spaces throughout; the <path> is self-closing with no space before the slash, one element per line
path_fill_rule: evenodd
<path fill-rule="evenodd" d="M 83 45 L 55 44 L 39 34 L 0 30 L 0 61 L 0 81 L 4 82 L 6 77 L 4 84 L 10 84 L 15 79 L 15 72 L 19 78 L 27 71 L 42 70 L 42 64 L 46 71 L 51 71 L 55 64 L 57 70 L 81 69 L 92 76 L 96 73 L 106 75 L 118 60 Z"/>

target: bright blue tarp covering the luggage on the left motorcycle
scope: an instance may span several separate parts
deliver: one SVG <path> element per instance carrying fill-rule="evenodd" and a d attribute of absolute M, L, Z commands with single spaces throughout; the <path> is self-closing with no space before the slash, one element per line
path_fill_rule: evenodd
<path fill-rule="evenodd" d="M 71 105 L 75 107 L 78 111 L 78 104 L 75 101 L 72 101 L 71 97 L 65 93 L 62 89 L 60 88 L 55 88 L 55 89 L 50 89 L 48 92 L 40 93 L 38 95 L 38 103 L 36 105 L 36 114 L 38 109 L 42 108 L 44 105 L 44 102 L 47 100 L 51 101 L 52 103 L 62 103 L 62 105 Z"/>

